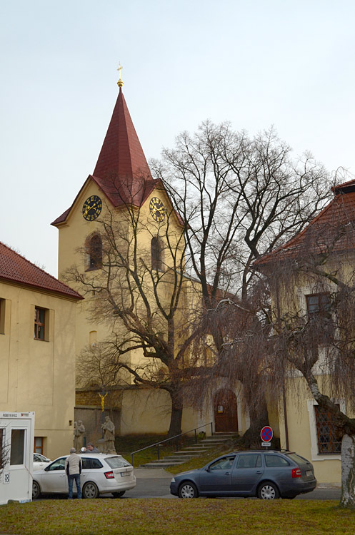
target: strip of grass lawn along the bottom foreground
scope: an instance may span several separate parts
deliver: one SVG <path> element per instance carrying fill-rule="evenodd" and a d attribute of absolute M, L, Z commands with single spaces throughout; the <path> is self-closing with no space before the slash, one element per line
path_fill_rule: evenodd
<path fill-rule="evenodd" d="M 355 511 L 334 501 L 95 499 L 0 506 L 1 535 L 354 533 Z"/>

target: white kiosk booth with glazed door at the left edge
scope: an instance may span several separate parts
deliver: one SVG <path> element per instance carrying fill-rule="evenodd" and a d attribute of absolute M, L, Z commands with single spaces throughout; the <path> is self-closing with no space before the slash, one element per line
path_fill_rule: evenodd
<path fill-rule="evenodd" d="M 34 412 L 0 412 L 0 504 L 32 500 Z"/>

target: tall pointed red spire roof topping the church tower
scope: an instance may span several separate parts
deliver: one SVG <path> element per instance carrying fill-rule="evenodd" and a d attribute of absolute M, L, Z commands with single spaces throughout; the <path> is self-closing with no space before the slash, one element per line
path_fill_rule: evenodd
<path fill-rule="evenodd" d="M 89 175 L 89 179 L 94 180 L 114 206 L 141 206 L 159 183 L 151 177 L 121 87 L 94 175 Z M 71 208 L 51 224 L 63 223 Z"/>

